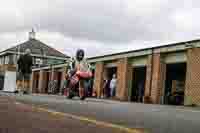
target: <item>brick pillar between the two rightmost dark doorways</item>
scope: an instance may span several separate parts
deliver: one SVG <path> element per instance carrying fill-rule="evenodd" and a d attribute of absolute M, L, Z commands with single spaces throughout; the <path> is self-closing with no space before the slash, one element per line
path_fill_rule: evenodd
<path fill-rule="evenodd" d="M 151 101 L 159 104 L 164 89 L 166 71 L 166 65 L 162 62 L 160 53 L 153 54 L 152 65 Z"/>

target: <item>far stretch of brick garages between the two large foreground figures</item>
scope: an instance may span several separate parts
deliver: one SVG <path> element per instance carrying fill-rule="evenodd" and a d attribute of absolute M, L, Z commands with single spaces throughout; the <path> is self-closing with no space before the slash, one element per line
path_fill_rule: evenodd
<path fill-rule="evenodd" d="M 67 64 L 58 64 L 33 69 L 31 78 L 32 93 L 47 94 L 49 92 L 49 84 L 54 80 L 58 81 L 55 87 L 55 94 L 61 93 L 67 66 Z"/>

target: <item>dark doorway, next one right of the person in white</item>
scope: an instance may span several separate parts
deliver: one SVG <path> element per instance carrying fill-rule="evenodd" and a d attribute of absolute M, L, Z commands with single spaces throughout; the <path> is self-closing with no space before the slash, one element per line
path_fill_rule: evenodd
<path fill-rule="evenodd" d="M 131 101 L 143 103 L 146 81 L 146 66 L 133 68 Z"/>

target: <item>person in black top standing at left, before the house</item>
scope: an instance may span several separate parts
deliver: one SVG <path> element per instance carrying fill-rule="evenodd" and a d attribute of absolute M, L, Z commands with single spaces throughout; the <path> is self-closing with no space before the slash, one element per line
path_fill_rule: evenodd
<path fill-rule="evenodd" d="M 19 60 L 17 61 L 18 65 L 18 90 L 21 93 L 28 93 L 29 89 L 29 82 L 30 82 L 30 75 L 32 73 L 32 65 L 33 60 L 31 57 L 31 50 L 26 49 L 25 54 L 20 56 Z"/>

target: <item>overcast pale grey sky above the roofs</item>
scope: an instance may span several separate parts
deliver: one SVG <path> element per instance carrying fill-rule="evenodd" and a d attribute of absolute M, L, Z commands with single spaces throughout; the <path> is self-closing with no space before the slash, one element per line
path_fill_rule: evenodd
<path fill-rule="evenodd" d="M 87 56 L 200 38 L 199 0 L 5 0 L 0 50 L 28 39 Z"/>

